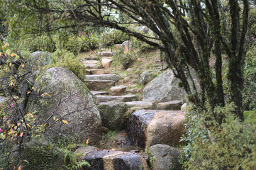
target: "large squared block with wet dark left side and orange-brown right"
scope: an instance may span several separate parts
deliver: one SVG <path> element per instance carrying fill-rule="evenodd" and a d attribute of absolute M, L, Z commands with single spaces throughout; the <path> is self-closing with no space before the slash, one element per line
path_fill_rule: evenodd
<path fill-rule="evenodd" d="M 184 111 L 137 110 L 130 116 L 126 129 L 132 145 L 179 145 L 184 132 Z"/>

